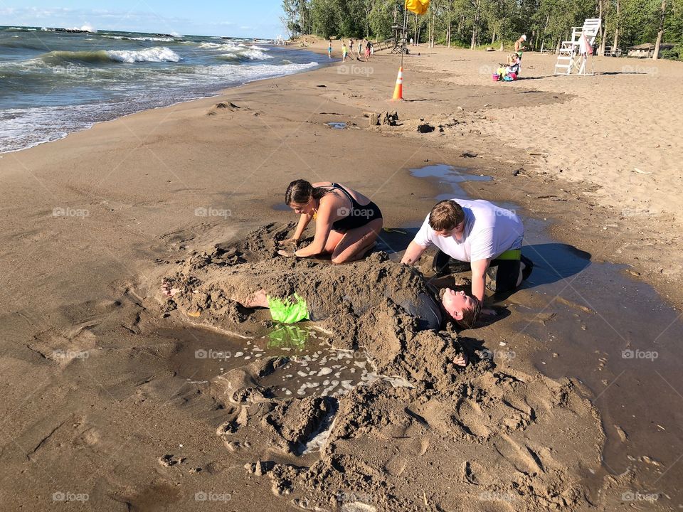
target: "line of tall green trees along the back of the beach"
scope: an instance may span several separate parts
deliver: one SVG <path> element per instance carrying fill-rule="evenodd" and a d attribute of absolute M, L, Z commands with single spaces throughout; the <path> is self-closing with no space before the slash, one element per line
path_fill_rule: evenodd
<path fill-rule="evenodd" d="M 403 23 L 403 0 L 282 0 L 282 10 L 290 37 L 383 40 Z M 524 33 L 528 48 L 557 51 L 572 26 L 596 17 L 603 20 L 598 55 L 672 43 L 662 57 L 683 60 L 683 0 L 431 0 L 425 15 L 408 13 L 408 38 L 430 46 L 502 49 Z"/>

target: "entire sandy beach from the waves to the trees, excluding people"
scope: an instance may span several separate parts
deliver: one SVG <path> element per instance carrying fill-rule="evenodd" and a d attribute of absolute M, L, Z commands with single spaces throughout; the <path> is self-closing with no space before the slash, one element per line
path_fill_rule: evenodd
<path fill-rule="evenodd" d="M 554 55 L 527 53 L 502 84 L 501 53 L 418 47 L 390 102 L 398 58 L 0 155 L 0 508 L 682 505 L 683 65 L 555 77 Z M 400 231 L 351 265 L 277 258 L 295 178 L 362 191 Z M 221 293 L 234 274 L 418 287 L 396 260 L 448 193 L 517 210 L 538 264 L 479 329 L 418 331 L 385 301 L 282 330 Z M 322 396 L 330 375 L 340 393 Z"/>

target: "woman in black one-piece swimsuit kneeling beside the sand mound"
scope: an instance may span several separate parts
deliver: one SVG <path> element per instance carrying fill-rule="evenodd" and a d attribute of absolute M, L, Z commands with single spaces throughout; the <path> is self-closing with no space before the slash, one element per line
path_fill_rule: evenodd
<path fill-rule="evenodd" d="M 364 257 L 382 230 L 378 206 L 353 188 L 321 181 L 292 181 L 285 192 L 285 203 L 300 214 L 292 238 L 281 245 L 296 248 L 311 220 L 315 220 L 313 241 L 302 249 L 280 250 L 282 256 L 311 257 L 332 255 L 332 263 L 346 263 Z"/>

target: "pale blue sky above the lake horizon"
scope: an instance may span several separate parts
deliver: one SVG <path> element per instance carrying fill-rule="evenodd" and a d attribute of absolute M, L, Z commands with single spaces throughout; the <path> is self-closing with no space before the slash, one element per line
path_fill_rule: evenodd
<path fill-rule="evenodd" d="M 280 16 L 281 0 L 0 0 L 0 26 L 275 38 Z"/>

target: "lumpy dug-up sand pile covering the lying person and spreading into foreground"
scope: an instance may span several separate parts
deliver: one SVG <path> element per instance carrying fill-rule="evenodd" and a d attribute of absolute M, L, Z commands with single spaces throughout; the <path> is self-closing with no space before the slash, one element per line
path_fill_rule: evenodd
<path fill-rule="evenodd" d="M 166 271 L 166 314 L 247 332 L 267 314 L 231 298 L 264 288 L 298 292 L 326 316 L 338 348 L 364 350 L 376 372 L 396 376 L 347 393 L 272 398 L 260 381 L 287 363 L 270 358 L 211 383 L 225 407 L 217 434 L 268 476 L 272 491 L 313 510 L 566 510 L 588 505 L 584 475 L 600 467 L 603 432 L 585 390 L 497 367 L 453 326 L 420 331 L 400 305 L 425 292 L 418 272 L 376 253 L 351 265 L 289 260 L 268 225 L 233 245 Z M 388 293 L 390 291 L 391 293 Z M 391 297 L 391 298 L 390 298 Z M 470 365 L 454 360 L 461 351 Z M 307 452 L 317 454 L 303 455 Z M 314 459 L 311 459 L 314 457 Z"/>

